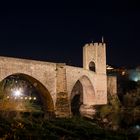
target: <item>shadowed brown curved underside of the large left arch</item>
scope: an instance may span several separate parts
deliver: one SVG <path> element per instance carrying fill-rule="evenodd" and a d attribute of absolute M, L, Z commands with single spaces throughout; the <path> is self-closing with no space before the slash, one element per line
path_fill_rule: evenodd
<path fill-rule="evenodd" d="M 27 80 L 32 86 L 36 89 L 37 93 L 39 94 L 41 101 L 43 103 L 43 111 L 44 114 L 54 114 L 54 103 L 52 97 L 48 91 L 48 89 L 37 79 L 33 78 L 30 75 L 24 73 L 14 73 L 7 77 L 5 77 L 2 81 L 4 81 L 8 77 L 18 76 L 21 79 Z M 2 83 L 1 81 L 1 83 Z"/>

